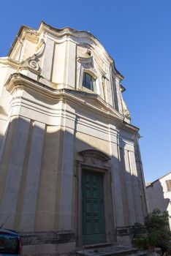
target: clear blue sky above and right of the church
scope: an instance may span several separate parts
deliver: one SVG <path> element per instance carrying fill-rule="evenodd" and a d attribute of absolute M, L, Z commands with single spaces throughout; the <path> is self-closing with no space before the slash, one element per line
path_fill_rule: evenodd
<path fill-rule="evenodd" d="M 145 181 L 171 171 L 171 0 L 7 0 L 0 3 L 0 56 L 21 25 L 91 31 L 123 74 L 132 124 L 140 127 Z"/>

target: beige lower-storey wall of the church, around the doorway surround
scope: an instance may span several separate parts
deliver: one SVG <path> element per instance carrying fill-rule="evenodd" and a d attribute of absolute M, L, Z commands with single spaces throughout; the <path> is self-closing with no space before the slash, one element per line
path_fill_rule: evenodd
<path fill-rule="evenodd" d="M 120 137 L 118 144 L 116 123 L 109 132 L 106 118 L 83 115 L 73 104 L 58 104 L 61 113 L 55 119 L 43 114 L 39 121 L 15 116 L 9 126 L 1 156 L 1 219 L 9 214 L 7 226 L 19 230 L 75 230 L 75 159 L 80 151 L 96 149 L 111 159 L 115 227 L 143 223 L 132 135 L 126 140 Z M 37 116 L 41 111 L 34 112 Z M 61 125 L 54 125 L 54 120 Z"/>

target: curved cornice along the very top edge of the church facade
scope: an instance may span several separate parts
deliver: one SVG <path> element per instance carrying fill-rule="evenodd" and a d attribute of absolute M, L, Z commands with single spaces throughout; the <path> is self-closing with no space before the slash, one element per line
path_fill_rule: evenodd
<path fill-rule="evenodd" d="M 38 29 L 32 29 L 31 27 L 25 26 L 25 25 L 20 26 L 18 34 L 16 35 L 15 40 L 12 43 L 12 46 L 9 49 L 7 56 L 9 58 L 12 58 L 13 55 L 15 54 L 16 49 L 20 47 L 20 44 L 22 44 L 23 40 L 26 38 L 35 43 L 38 43 L 39 37 L 41 37 L 41 34 L 43 32 L 58 38 L 64 37 L 64 36 L 70 36 L 70 37 L 75 37 L 81 40 L 88 39 L 91 42 L 91 44 L 94 44 L 97 46 L 99 51 L 102 53 L 101 56 L 103 56 L 107 62 L 109 62 L 110 64 L 113 64 L 113 71 L 115 72 L 115 75 L 118 76 L 119 80 L 123 80 L 124 78 L 123 75 L 121 75 L 121 73 L 118 72 L 118 69 L 116 69 L 115 67 L 115 61 L 107 53 L 107 51 L 105 50 L 101 42 L 99 42 L 99 39 L 97 39 L 93 34 L 91 34 L 91 32 L 72 29 L 68 26 L 64 27 L 63 29 L 56 29 L 55 27 L 48 25 L 44 21 L 41 21 Z"/>

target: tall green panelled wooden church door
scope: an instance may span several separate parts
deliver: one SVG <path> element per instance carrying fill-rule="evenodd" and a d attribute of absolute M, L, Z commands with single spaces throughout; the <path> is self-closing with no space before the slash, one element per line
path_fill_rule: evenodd
<path fill-rule="evenodd" d="M 105 242 L 103 174 L 83 171 L 83 244 Z"/>

